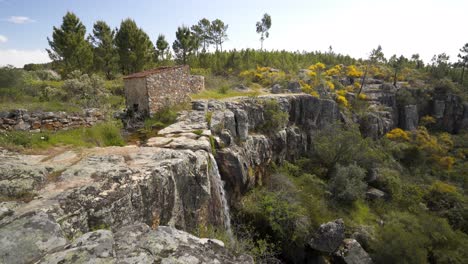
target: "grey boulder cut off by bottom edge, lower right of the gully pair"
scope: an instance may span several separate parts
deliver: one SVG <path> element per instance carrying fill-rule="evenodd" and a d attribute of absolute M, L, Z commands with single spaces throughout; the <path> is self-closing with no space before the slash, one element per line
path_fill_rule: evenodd
<path fill-rule="evenodd" d="M 346 264 L 372 264 L 369 254 L 354 239 L 345 239 L 334 257 Z"/>

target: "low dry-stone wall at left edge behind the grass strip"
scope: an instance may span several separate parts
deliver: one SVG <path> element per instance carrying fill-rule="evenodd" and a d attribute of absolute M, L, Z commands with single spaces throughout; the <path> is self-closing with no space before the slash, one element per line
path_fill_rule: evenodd
<path fill-rule="evenodd" d="M 97 109 L 86 109 L 83 113 L 28 112 L 12 110 L 0 112 L 0 130 L 40 132 L 43 130 L 67 130 L 81 126 L 92 126 L 104 121 L 105 117 Z"/>

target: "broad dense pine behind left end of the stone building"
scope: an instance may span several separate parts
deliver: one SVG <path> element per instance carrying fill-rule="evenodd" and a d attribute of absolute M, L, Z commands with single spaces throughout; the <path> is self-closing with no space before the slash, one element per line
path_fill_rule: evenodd
<path fill-rule="evenodd" d="M 115 36 L 115 43 L 122 73 L 130 74 L 152 66 L 154 45 L 134 20 L 128 18 L 122 21 Z"/>

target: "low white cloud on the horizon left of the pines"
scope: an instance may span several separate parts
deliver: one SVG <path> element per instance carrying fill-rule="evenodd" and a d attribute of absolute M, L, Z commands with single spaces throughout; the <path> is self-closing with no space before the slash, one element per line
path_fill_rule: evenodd
<path fill-rule="evenodd" d="M 50 62 L 49 55 L 45 50 L 16 50 L 0 49 L 0 66 L 13 65 L 23 67 L 28 63 Z"/>

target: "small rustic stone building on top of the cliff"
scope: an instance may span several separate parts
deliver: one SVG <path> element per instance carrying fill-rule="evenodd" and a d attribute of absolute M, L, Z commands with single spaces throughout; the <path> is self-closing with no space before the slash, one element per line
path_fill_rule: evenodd
<path fill-rule="evenodd" d="M 127 110 L 152 116 L 164 107 L 190 100 L 205 88 L 205 78 L 190 75 L 188 65 L 159 67 L 124 78 Z"/>

